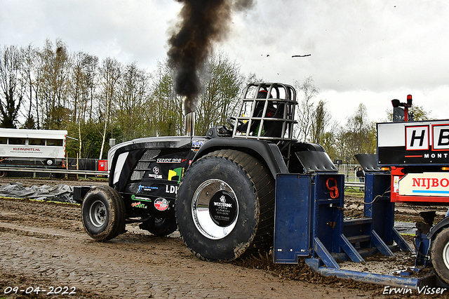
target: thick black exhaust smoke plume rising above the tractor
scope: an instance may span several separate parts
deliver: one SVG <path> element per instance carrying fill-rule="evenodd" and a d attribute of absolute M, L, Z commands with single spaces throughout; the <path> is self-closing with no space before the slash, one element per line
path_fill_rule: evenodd
<path fill-rule="evenodd" d="M 175 72 L 175 92 L 185 96 L 184 112 L 194 112 L 201 93 L 200 77 L 214 41 L 228 32 L 233 10 L 251 8 L 254 0 L 177 0 L 184 4 L 177 32 L 168 43 L 168 65 Z M 173 30 L 175 31 L 175 30 Z"/>

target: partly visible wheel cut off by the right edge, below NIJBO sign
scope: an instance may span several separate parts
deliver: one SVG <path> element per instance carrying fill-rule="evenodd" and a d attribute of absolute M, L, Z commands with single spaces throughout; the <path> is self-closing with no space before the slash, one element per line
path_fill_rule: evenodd
<path fill-rule="evenodd" d="M 436 234 L 430 246 L 430 255 L 436 274 L 449 284 L 449 227 Z"/>

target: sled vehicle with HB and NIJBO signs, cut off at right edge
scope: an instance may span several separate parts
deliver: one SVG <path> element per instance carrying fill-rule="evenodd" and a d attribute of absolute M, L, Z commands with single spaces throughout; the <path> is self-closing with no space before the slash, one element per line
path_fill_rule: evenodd
<path fill-rule="evenodd" d="M 391 173 L 391 202 L 449 206 L 449 120 L 377 124 L 377 149 L 377 164 Z M 438 223 L 435 211 L 421 215 L 417 261 L 449 284 L 449 211 Z"/>

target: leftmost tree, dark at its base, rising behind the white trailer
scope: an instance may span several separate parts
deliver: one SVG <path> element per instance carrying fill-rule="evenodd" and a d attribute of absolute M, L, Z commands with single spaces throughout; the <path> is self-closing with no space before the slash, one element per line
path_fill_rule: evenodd
<path fill-rule="evenodd" d="M 3 128 L 15 128 L 18 112 L 25 91 L 22 77 L 23 58 L 16 46 L 4 46 L 0 51 L 1 124 Z"/>

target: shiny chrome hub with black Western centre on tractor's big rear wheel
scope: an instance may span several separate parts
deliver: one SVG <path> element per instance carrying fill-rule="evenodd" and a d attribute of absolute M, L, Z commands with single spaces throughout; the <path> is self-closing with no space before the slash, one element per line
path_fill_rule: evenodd
<path fill-rule="evenodd" d="M 232 187 L 223 180 L 203 182 L 192 200 L 196 228 L 209 239 L 222 239 L 232 232 L 239 215 L 239 204 Z"/>

